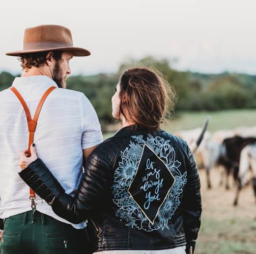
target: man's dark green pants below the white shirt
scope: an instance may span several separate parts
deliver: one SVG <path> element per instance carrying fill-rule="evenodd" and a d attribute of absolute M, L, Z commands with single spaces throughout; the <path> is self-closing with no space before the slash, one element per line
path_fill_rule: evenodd
<path fill-rule="evenodd" d="M 5 220 L 1 254 L 90 254 L 86 229 L 75 229 L 39 211 Z"/>

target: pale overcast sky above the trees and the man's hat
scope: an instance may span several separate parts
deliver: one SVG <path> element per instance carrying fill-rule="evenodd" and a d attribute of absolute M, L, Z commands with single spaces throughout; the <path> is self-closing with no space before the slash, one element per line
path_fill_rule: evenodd
<path fill-rule="evenodd" d="M 71 60 L 73 75 L 116 72 L 129 58 L 167 58 L 179 70 L 256 74 L 255 0 L 1 1 L 0 71 L 20 63 L 27 27 L 58 24 L 91 56 Z"/>

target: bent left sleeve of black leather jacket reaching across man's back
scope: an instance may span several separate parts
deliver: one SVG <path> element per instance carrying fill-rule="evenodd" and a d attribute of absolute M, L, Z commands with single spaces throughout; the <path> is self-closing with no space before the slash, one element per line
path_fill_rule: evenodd
<path fill-rule="evenodd" d="M 40 159 L 31 163 L 19 175 L 37 195 L 52 206 L 57 215 L 78 224 L 102 206 L 112 179 L 109 168 L 99 155 L 91 154 L 86 165 L 74 197 L 65 193 L 58 180 Z"/>

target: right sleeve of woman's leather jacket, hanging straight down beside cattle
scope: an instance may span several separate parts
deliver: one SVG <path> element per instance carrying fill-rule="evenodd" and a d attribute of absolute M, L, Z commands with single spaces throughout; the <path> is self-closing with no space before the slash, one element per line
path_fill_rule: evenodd
<path fill-rule="evenodd" d="M 186 253 L 193 253 L 195 241 L 201 226 L 202 200 L 201 184 L 191 150 L 188 148 L 187 185 L 183 197 L 184 230 Z"/>

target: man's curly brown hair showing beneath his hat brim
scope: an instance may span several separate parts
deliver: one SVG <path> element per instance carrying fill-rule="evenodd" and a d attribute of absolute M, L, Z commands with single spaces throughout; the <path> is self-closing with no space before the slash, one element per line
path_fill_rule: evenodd
<path fill-rule="evenodd" d="M 46 61 L 46 55 L 50 51 L 47 52 L 36 52 L 36 53 L 26 53 L 22 54 L 18 57 L 19 61 L 21 62 L 22 69 L 30 69 L 32 66 L 40 67 Z M 53 58 L 58 61 L 62 57 L 62 51 L 55 50 L 53 52 Z"/>

